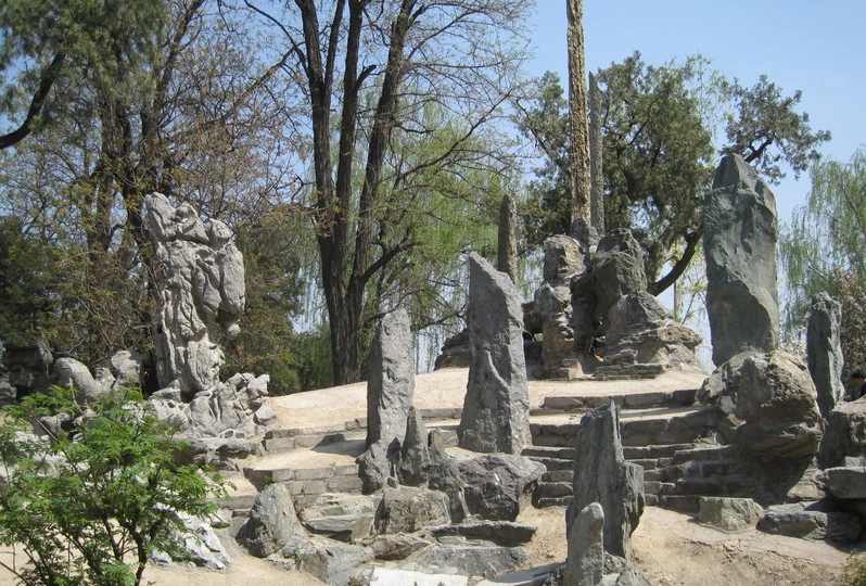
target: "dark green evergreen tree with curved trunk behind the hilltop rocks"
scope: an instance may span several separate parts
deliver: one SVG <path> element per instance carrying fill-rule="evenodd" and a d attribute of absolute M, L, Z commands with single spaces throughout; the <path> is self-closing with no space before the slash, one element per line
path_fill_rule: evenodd
<path fill-rule="evenodd" d="M 808 116 L 794 111 L 799 92 L 786 98 L 766 77 L 744 88 L 711 71 L 700 55 L 653 66 L 634 53 L 599 71 L 597 79 L 604 226 L 632 229 L 653 294 L 671 286 L 697 251 L 715 152 L 739 152 L 772 182 L 784 176 L 784 166 L 802 173 L 818 156 L 816 146 L 829 140 L 829 132 L 813 132 Z M 563 111 L 557 77 L 542 77 L 536 94 L 520 104 L 519 124 L 545 154 L 530 204 L 528 235 L 538 243 L 548 228 L 564 224 L 559 202 L 569 194 L 563 180 L 571 171 L 562 166 L 569 146 L 558 133 Z M 713 137 L 723 120 L 726 143 L 718 149 Z"/>

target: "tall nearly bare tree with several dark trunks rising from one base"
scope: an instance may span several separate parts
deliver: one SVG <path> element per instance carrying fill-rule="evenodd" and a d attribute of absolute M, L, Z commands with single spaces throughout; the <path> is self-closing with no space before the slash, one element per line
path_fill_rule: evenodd
<path fill-rule="evenodd" d="M 370 288 L 421 246 L 416 226 L 432 219 L 411 217 L 407 205 L 426 191 L 423 180 L 508 168 L 502 152 L 479 153 L 473 140 L 515 88 L 530 2 L 295 0 L 285 14 L 247 4 L 283 35 L 286 68 L 308 100 L 298 126 L 311 132 L 310 207 L 334 382 L 354 382 L 359 339 L 375 316 L 365 315 Z M 436 130 L 431 109 L 461 125 L 441 133 L 431 156 L 405 158 L 400 144 Z"/>

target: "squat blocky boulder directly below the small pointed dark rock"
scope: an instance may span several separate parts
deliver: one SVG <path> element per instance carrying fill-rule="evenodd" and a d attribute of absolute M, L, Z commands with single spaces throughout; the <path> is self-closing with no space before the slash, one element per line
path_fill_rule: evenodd
<path fill-rule="evenodd" d="M 375 513 L 377 533 L 415 533 L 449 521 L 448 497 L 440 491 L 385 488 Z"/>

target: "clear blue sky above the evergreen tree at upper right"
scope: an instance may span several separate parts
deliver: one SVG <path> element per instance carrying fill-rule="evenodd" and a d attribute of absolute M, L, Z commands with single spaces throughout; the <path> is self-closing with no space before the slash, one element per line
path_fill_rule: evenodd
<path fill-rule="evenodd" d="M 565 0 L 536 0 L 533 75 L 565 80 Z M 639 50 L 650 64 L 702 53 L 751 86 L 766 74 L 786 95 L 802 90 L 813 129 L 830 130 L 825 156 L 848 161 L 866 143 L 866 1 L 585 0 L 587 69 Z M 773 188 L 780 221 L 808 191 L 808 177 Z"/>

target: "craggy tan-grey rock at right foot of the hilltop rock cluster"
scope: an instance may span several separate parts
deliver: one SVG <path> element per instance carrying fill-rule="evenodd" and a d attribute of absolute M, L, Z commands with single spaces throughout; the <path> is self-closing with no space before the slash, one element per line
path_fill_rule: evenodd
<path fill-rule="evenodd" d="M 599 353 L 609 365 L 697 368 L 701 336 L 680 326 L 659 301 L 641 291 L 620 298 L 608 311 L 610 329 Z"/>

